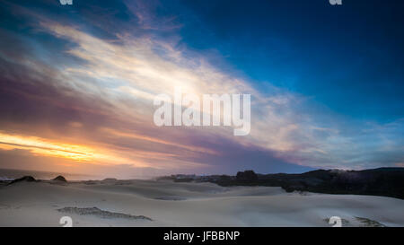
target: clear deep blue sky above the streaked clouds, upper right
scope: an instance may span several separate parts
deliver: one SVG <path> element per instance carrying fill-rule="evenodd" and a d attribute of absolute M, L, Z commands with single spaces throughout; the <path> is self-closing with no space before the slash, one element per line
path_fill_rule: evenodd
<path fill-rule="evenodd" d="M 353 118 L 403 117 L 402 1 L 183 4 L 189 10 L 180 15 L 183 41 L 198 50 L 218 49 L 255 81 L 313 96 Z"/>

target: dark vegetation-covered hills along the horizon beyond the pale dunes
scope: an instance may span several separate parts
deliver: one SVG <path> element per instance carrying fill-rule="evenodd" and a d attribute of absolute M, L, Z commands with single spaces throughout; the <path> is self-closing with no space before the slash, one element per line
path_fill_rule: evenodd
<path fill-rule="evenodd" d="M 319 170 L 301 174 L 256 174 L 239 171 L 236 177 L 209 179 L 220 186 L 282 187 L 287 192 L 310 191 L 328 194 L 355 194 L 404 199 L 404 168 L 364 171 Z"/>

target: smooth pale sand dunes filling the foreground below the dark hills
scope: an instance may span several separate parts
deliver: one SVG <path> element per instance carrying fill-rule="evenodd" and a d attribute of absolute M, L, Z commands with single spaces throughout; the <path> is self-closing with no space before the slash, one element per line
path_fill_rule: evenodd
<path fill-rule="evenodd" d="M 145 215 L 153 221 L 66 214 L 64 207 L 97 207 L 114 213 Z M 340 216 L 387 226 L 404 226 L 404 200 L 391 197 L 285 193 L 282 188 L 223 188 L 211 183 L 171 181 L 22 182 L 0 187 L 0 226 L 330 226 Z"/>

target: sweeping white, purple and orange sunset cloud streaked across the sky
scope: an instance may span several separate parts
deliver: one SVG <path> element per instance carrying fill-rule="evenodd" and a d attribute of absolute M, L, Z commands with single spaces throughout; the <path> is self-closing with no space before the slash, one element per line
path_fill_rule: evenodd
<path fill-rule="evenodd" d="M 209 63 L 211 57 L 189 51 L 176 24 L 167 21 L 175 18 L 136 3 L 125 5 L 139 26 L 123 24 L 118 30 L 106 24 L 102 34 L 100 22 L 84 28 L 20 8 L 34 26 L 32 49 L 0 50 L 0 136 L 8 138 L 2 149 L 54 159 L 66 158 L 73 147 L 74 162 L 154 173 L 352 169 L 403 161 L 403 143 L 395 135 L 404 128 L 402 120 L 357 123 L 302 94 L 269 83 L 266 90 L 257 89 L 247 78 Z M 102 22 L 116 20 L 114 14 L 102 16 Z M 162 39 L 156 31 L 172 33 Z M 13 50 L 28 45 L 25 37 L 2 32 L 17 40 Z M 60 45 L 49 47 L 44 39 Z M 235 137 L 229 127 L 155 127 L 154 96 L 178 86 L 198 95 L 250 93 L 250 136 Z M 29 144 L 17 144 L 27 139 Z M 92 157 L 85 158 L 88 154 Z"/>

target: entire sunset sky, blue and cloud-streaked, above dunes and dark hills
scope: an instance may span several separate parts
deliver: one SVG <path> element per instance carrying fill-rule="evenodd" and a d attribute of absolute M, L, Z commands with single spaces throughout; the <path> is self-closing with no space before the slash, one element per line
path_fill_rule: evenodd
<path fill-rule="evenodd" d="M 150 178 L 404 167 L 402 1 L 0 2 L 0 168 Z M 248 136 L 154 98 L 250 94 Z"/>

